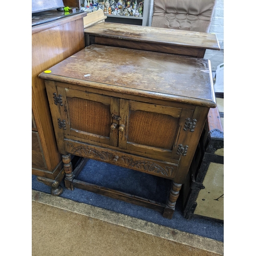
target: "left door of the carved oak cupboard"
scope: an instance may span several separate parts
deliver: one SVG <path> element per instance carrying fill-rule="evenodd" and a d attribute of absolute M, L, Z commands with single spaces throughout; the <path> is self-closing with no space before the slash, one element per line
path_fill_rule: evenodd
<path fill-rule="evenodd" d="M 118 131 L 112 130 L 111 125 L 117 122 L 112 120 L 112 114 L 119 114 L 119 99 L 62 87 L 57 91 L 62 97 L 59 121 L 65 125 L 66 138 L 117 146 Z"/>

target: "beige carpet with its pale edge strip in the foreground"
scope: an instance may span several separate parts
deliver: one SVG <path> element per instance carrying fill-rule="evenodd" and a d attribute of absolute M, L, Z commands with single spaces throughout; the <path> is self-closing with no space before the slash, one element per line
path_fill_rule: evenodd
<path fill-rule="evenodd" d="M 32 190 L 32 256 L 215 256 L 223 243 Z"/>

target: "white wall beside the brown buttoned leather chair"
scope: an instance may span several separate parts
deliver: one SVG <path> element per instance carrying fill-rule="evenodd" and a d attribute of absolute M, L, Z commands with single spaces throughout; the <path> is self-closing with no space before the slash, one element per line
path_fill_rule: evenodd
<path fill-rule="evenodd" d="M 224 0 L 217 0 L 209 33 L 216 34 L 221 49 L 224 49 Z"/>

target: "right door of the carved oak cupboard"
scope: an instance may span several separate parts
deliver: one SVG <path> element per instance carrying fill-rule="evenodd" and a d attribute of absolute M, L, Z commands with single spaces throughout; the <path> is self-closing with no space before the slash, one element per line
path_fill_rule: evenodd
<path fill-rule="evenodd" d="M 184 125 L 192 114 L 193 110 L 120 99 L 118 146 L 150 158 L 179 160 L 181 147 L 187 148 Z"/>

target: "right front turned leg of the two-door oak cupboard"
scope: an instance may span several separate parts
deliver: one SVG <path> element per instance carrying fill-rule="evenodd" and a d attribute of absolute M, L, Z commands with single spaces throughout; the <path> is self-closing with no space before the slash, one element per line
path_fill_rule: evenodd
<path fill-rule="evenodd" d="M 169 192 L 169 198 L 167 199 L 165 209 L 163 211 L 163 217 L 167 219 L 172 219 L 174 210 L 175 210 L 175 205 L 176 201 L 180 195 L 180 189 L 181 189 L 182 184 L 175 183 L 172 181 L 172 185 L 170 187 L 170 192 Z"/>

